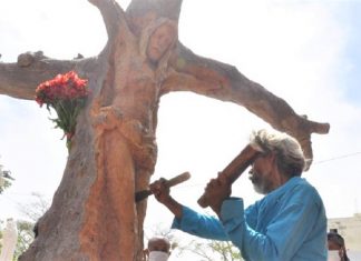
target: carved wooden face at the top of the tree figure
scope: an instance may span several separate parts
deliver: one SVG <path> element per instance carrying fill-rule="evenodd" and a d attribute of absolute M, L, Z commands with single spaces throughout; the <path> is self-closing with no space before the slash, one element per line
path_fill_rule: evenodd
<path fill-rule="evenodd" d="M 176 37 L 176 30 L 172 24 L 160 24 L 150 36 L 147 56 L 152 62 L 160 60 Z"/>

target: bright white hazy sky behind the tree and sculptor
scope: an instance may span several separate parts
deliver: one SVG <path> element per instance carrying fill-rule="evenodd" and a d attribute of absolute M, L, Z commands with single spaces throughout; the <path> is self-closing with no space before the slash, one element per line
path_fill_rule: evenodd
<path fill-rule="evenodd" d="M 118 1 L 126 8 L 128 1 Z M 97 56 L 106 43 L 99 11 L 86 0 L 0 0 L 0 53 L 14 62 L 26 51 L 56 59 Z M 329 122 L 313 134 L 314 163 L 303 174 L 320 192 L 329 218 L 361 212 L 361 0 L 184 0 L 179 40 L 195 53 L 235 66 L 286 100 L 300 114 Z M 0 219 L 21 218 L 19 204 L 39 192 L 51 200 L 67 161 L 62 133 L 35 101 L 0 96 L 0 164 L 13 185 L 0 195 Z M 194 93 L 162 98 L 158 161 L 153 180 L 189 171 L 172 190 L 182 203 L 196 200 L 211 178 L 247 143 L 253 129 L 270 128 L 243 107 Z M 261 195 L 247 174 L 233 195 L 251 204 Z M 145 229 L 172 214 L 153 198 Z"/>

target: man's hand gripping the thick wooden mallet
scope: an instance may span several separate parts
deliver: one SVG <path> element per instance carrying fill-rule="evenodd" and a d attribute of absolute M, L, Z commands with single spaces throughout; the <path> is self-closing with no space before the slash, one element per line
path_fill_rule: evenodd
<path fill-rule="evenodd" d="M 212 179 L 207 183 L 205 192 L 209 201 L 209 207 L 217 215 L 219 215 L 223 201 L 226 198 L 230 198 L 232 193 L 232 183 L 226 179 L 226 177 L 218 173 L 216 179 Z"/>

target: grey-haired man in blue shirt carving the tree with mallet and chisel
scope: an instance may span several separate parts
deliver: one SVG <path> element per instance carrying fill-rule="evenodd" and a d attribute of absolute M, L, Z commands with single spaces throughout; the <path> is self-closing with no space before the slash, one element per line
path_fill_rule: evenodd
<path fill-rule="evenodd" d="M 300 144 L 286 134 L 261 130 L 253 133 L 250 145 L 260 152 L 250 179 L 265 197 L 244 210 L 242 199 L 230 198 L 232 184 L 221 174 L 205 189 L 216 219 L 178 203 L 160 179 L 150 189 L 175 214 L 173 228 L 231 240 L 245 260 L 325 261 L 325 211 L 316 190 L 300 178 L 305 167 Z"/>

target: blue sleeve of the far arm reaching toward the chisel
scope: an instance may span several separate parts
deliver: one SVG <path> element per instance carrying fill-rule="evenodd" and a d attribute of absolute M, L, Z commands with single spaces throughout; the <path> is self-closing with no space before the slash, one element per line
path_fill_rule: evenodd
<path fill-rule="evenodd" d="M 224 231 L 222 222 L 217 218 L 199 214 L 187 207 L 183 207 L 180 219 L 174 219 L 172 229 L 179 229 L 205 239 L 221 241 L 230 240 Z"/>

